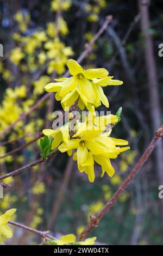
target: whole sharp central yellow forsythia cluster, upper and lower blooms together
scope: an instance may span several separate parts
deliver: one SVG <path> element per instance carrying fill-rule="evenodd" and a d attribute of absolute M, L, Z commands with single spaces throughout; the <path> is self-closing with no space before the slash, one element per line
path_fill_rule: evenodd
<path fill-rule="evenodd" d="M 84 121 L 80 121 L 81 117 L 77 118 L 73 122 L 73 129 L 72 121 L 69 120 L 55 130 L 43 130 L 43 134 L 53 138 L 52 150 L 58 147 L 62 153 L 67 152 L 69 156 L 73 154 L 73 160 L 77 161 L 79 171 L 85 172 L 90 182 L 95 180 L 95 162 L 101 166 L 102 177 L 105 172 L 111 177 L 115 170 L 110 159 L 116 159 L 120 153 L 128 150 L 129 147 L 120 147 L 128 145 L 128 141 L 110 137 L 112 127 L 120 121 L 118 114 L 97 117 L 95 107 L 100 106 L 101 103 L 109 107 L 102 87 L 117 86 L 123 82 L 112 80 L 113 77 L 108 76 L 108 71 L 103 68 L 84 70 L 73 59 L 68 60 L 67 66 L 72 76 L 56 79 L 55 83 L 48 83 L 45 90 L 56 93 L 55 98 L 61 101 L 64 110 L 69 109 L 76 102 L 80 109 L 86 107 L 89 114 Z"/>

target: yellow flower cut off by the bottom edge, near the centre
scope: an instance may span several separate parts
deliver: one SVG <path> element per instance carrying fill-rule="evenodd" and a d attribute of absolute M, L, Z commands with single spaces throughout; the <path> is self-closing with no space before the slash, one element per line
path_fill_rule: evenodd
<path fill-rule="evenodd" d="M 96 237 L 87 238 L 85 241 L 76 242 L 76 236 L 73 234 L 63 235 L 59 240 L 55 239 L 50 243 L 53 245 L 94 245 Z"/>

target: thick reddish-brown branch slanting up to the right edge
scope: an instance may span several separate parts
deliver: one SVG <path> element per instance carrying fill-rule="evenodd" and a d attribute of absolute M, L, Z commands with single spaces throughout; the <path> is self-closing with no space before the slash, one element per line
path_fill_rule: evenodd
<path fill-rule="evenodd" d="M 147 161 L 148 157 L 151 155 L 153 149 L 155 148 L 156 144 L 163 136 L 163 125 L 156 131 L 154 138 L 152 139 L 151 143 L 148 145 L 145 153 L 141 156 L 140 160 L 136 163 L 133 170 L 131 170 L 130 174 L 127 178 L 123 181 L 122 185 L 118 188 L 115 194 L 111 197 L 111 199 L 105 204 L 104 208 L 98 212 L 96 216 L 91 217 L 91 221 L 87 224 L 86 228 L 83 232 L 79 235 L 78 241 L 82 241 L 84 237 L 90 233 L 90 231 L 98 226 L 99 221 L 104 217 L 104 215 L 110 210 L 112 205 L 115 204 L 117 199 L 121 196 L 121 193 L 126 190 L 130 182 L 135 178 L 135 175 L 139 172 L 143 164 Z"/>

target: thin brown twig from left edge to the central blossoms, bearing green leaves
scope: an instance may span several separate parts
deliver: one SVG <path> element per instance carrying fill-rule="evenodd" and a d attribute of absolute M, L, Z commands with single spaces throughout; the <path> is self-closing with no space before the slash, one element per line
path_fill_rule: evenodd
<path fill-rule="evenodd" d="M 43 163 L 43 162 L 47 161 L 49 158 L 51 158 L 53 155 L 57 154 L 58 152 L 59 152 L 58 149 L 55 149 L 51 154 L 48 155 L 47 159 L 44 160 L 41 157 L 40 159 L 38 159 L 38 160 L 36 160 L 36 161 L 34 161 L 32 163 L 29 163 L 26 166 L 20 167 L 20 168 L 18 168 L 16 170 L 13 170 L 12 172 L 9 172 L 7 174 L 4 174 L 4 175 L 0 176 L 0 180 L 3 180 L 3 179 L 8 178 L 10 176 L 15 176 L 15 175 L 17 175 L 19 173 L 22 173 L 24 170 L 27 170 L 27 169 L 29 169 L 31 167 L 36 166 L 39 163 Z"/>

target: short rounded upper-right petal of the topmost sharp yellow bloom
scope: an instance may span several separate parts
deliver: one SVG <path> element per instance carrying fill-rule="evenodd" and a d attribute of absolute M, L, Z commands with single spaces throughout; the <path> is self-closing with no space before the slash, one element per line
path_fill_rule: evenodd
<path fill-rule="evenodd" d="M 104 78 L 108 76 L 108 71 L 106 69 L 87 69 L 83 71 L 83 75 L 88 79 L 93 78 Z"/>

